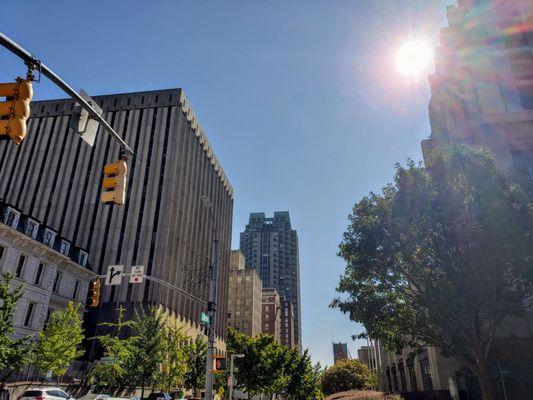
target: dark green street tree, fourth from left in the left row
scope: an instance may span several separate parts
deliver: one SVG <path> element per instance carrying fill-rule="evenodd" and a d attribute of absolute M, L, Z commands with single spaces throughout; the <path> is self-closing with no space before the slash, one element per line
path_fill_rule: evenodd
<path fill-rule="evenodd" d="M 132 327 L 135 336 L 131 339 L 132 354 L 127 361 L 127 379 L 131 384 L 144 388 L 157 383 L 165 349 L 165 316 L 157 307 L 138 311 Z"/>

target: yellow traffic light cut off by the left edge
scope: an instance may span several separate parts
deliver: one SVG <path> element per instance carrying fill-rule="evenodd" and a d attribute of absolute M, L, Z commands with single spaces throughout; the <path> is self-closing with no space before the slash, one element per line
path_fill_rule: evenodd
<path fill-rule="evenodd" d="M 28 79 L 17 78 L 14 83 L 0 83 L 0 139 L 8 137 L 20 144 L 26 137 L 26 120 L 30 116 L 33 88 Z"/>

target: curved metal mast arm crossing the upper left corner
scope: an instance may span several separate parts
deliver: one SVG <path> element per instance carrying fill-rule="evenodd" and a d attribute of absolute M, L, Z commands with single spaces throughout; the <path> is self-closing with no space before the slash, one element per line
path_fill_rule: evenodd
<path fill-rule="evenodd" d="M 98 112 L 96 112 L 96 110 L 83 97 L 81 97 L 74 89 L 72 89 L 65 81 L 63 81 L 63 79 L 56 75 L 54 71 L 48 68 L 39 59 L 32 56 L 28 51 L 4 35 L 2 32 L 0 32 L 0 45 L 4 46 L 16 56 L 22 58 L 28 68 L 38 70 L 44 76 L 54 82 L 66 94 L 75 99 L 81 105 L 81 107 L 87 110 L 92 119 L 98 121 L 102 127 L 111 136 L 113 136 L 117 142 L 120 143 L 124 150 L 133 155 L 133 150 L 126 144 L 126 142 L 124 142 L 124 140 L 122 140 L 120 135 L 115 132 L 111 125 L 109 125 L 107 121 L 100 114 L 98 114 Z"/>

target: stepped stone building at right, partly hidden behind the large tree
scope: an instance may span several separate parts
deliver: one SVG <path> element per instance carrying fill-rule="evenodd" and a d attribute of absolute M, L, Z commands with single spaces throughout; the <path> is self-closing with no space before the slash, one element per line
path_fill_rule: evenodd
<path fill-rule="evenodd" d="M 447 8 L 447 19 L 429 77 L 431 135 L 422 142 L 424 157 L 441 144 L 479 145 L 494 154 L 502 170 L 517 168 L 533 179 L 533 3 L 459 0 Z M 526 308 L 522 318 L 501 324 L 493 347 L 531 348 L 531 326 Z M 509 357 L 500 350 L 489 365 L 495 398 L 526 398 L 533 389 L 531 355 L 515 350 Z M 407 398 L 414 398 L 413 392 L 480 398 L 473 374 L 435 347 L 401 354 L 378 348 L 378 354 L 386 391 Z"/>

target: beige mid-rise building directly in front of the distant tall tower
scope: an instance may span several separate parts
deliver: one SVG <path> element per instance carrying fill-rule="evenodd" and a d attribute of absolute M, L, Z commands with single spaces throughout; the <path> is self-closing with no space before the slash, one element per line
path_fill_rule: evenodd
<path fill-rule="evenodd" d="M 255 336 L 261 333 L 263 284 L 257 272 L 244 268 L 244 256 L 239 250 L 231 252 L 228 327 Z"/>

